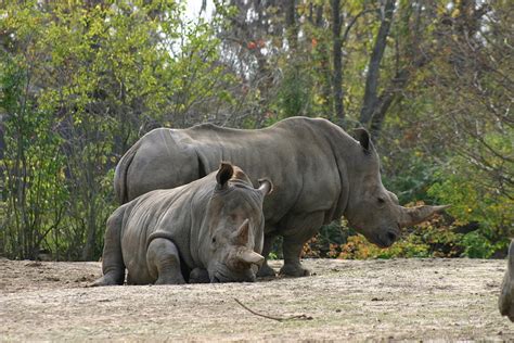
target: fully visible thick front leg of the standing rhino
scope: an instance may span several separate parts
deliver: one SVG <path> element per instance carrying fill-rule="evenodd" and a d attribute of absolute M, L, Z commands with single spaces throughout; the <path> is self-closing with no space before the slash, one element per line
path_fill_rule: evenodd
<path fill-rule="evenodd" d="M 306 277 L 310 270 L 301 266 L 299 257 L 304 244 L 311 239 L 323 224 L 324 212 L 314 212 L 305 215 L 291 217 L 283 232 L 284 242 L 282 250 L 284 253 L 284 266 L 280 269 L 281 275 L 290 277 Z"/>

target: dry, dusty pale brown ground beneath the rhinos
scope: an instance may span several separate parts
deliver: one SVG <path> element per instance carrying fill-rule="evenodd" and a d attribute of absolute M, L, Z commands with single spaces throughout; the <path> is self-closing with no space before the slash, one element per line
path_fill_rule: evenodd
<path fill-rule="evenodd" d="M 304 263 L 316 275 L 256 283 L 86 288 L 100 276 L 99 263 L 3 259 L 0 340 L 514 341 L 514 325 L 497 307 L 504 261 Z M 235 300 L 258 314 L 288 319 L 260 317 Z"/>

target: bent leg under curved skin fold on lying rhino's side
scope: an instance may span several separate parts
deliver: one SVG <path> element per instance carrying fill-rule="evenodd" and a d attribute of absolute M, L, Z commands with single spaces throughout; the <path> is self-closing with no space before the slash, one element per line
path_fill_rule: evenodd
<path fill-rule="evenodd" d="M 155 284 L 182 284 L 185 280 L 180 270 L 179 251 L 174 242 L 156 238 L 149 244 L 146 265 Z"/>

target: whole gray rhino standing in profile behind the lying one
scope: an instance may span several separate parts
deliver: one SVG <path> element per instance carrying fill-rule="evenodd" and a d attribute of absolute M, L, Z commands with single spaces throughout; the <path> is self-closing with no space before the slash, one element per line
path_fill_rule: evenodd
<path fill-rule="evenodd" d="M 421 223 L 444 206 L 406 208 L 382 185 L 378 155 L 368 132 L 357 140 L 322 118 L 291 117 L 257 130 L 209 124 L 188 129 L 158 128 L 142 137 L 120 160 L 114 185 L 124 203 L 158 188 L 197 179 L 220 161 L 240 165 L 252 178 L 266 175 L 275 191 L 264 204 L 264 255 L 283 237 L 281 274 L 305 276 L 304 243 L 323 224 L 343 215 L 378 246 L 389 246 L 400 227 Z M 255 182 L 255 179 L 253 179 Z M 260 276 L 272 276 L 265 264 Z"/>

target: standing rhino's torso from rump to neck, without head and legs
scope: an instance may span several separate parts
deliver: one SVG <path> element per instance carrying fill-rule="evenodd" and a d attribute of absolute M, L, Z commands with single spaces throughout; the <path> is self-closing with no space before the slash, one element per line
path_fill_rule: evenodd
<path fill-rule="evenodd" d="M 355 141 L 329 120 L 292 117 L 256 130 L 209 124 L 155 129 L 138 144 L 127 172 L 129 199 L 184 185 L 229 161 L 254 185 L 261 177 L 273 181 L 274 192 L 265 200 L 264 212 L 267 226 L 275 226 L 296 213 L 323 211 L 325 223 L 342 216 L 344 166 L 334 149 Z"/>

